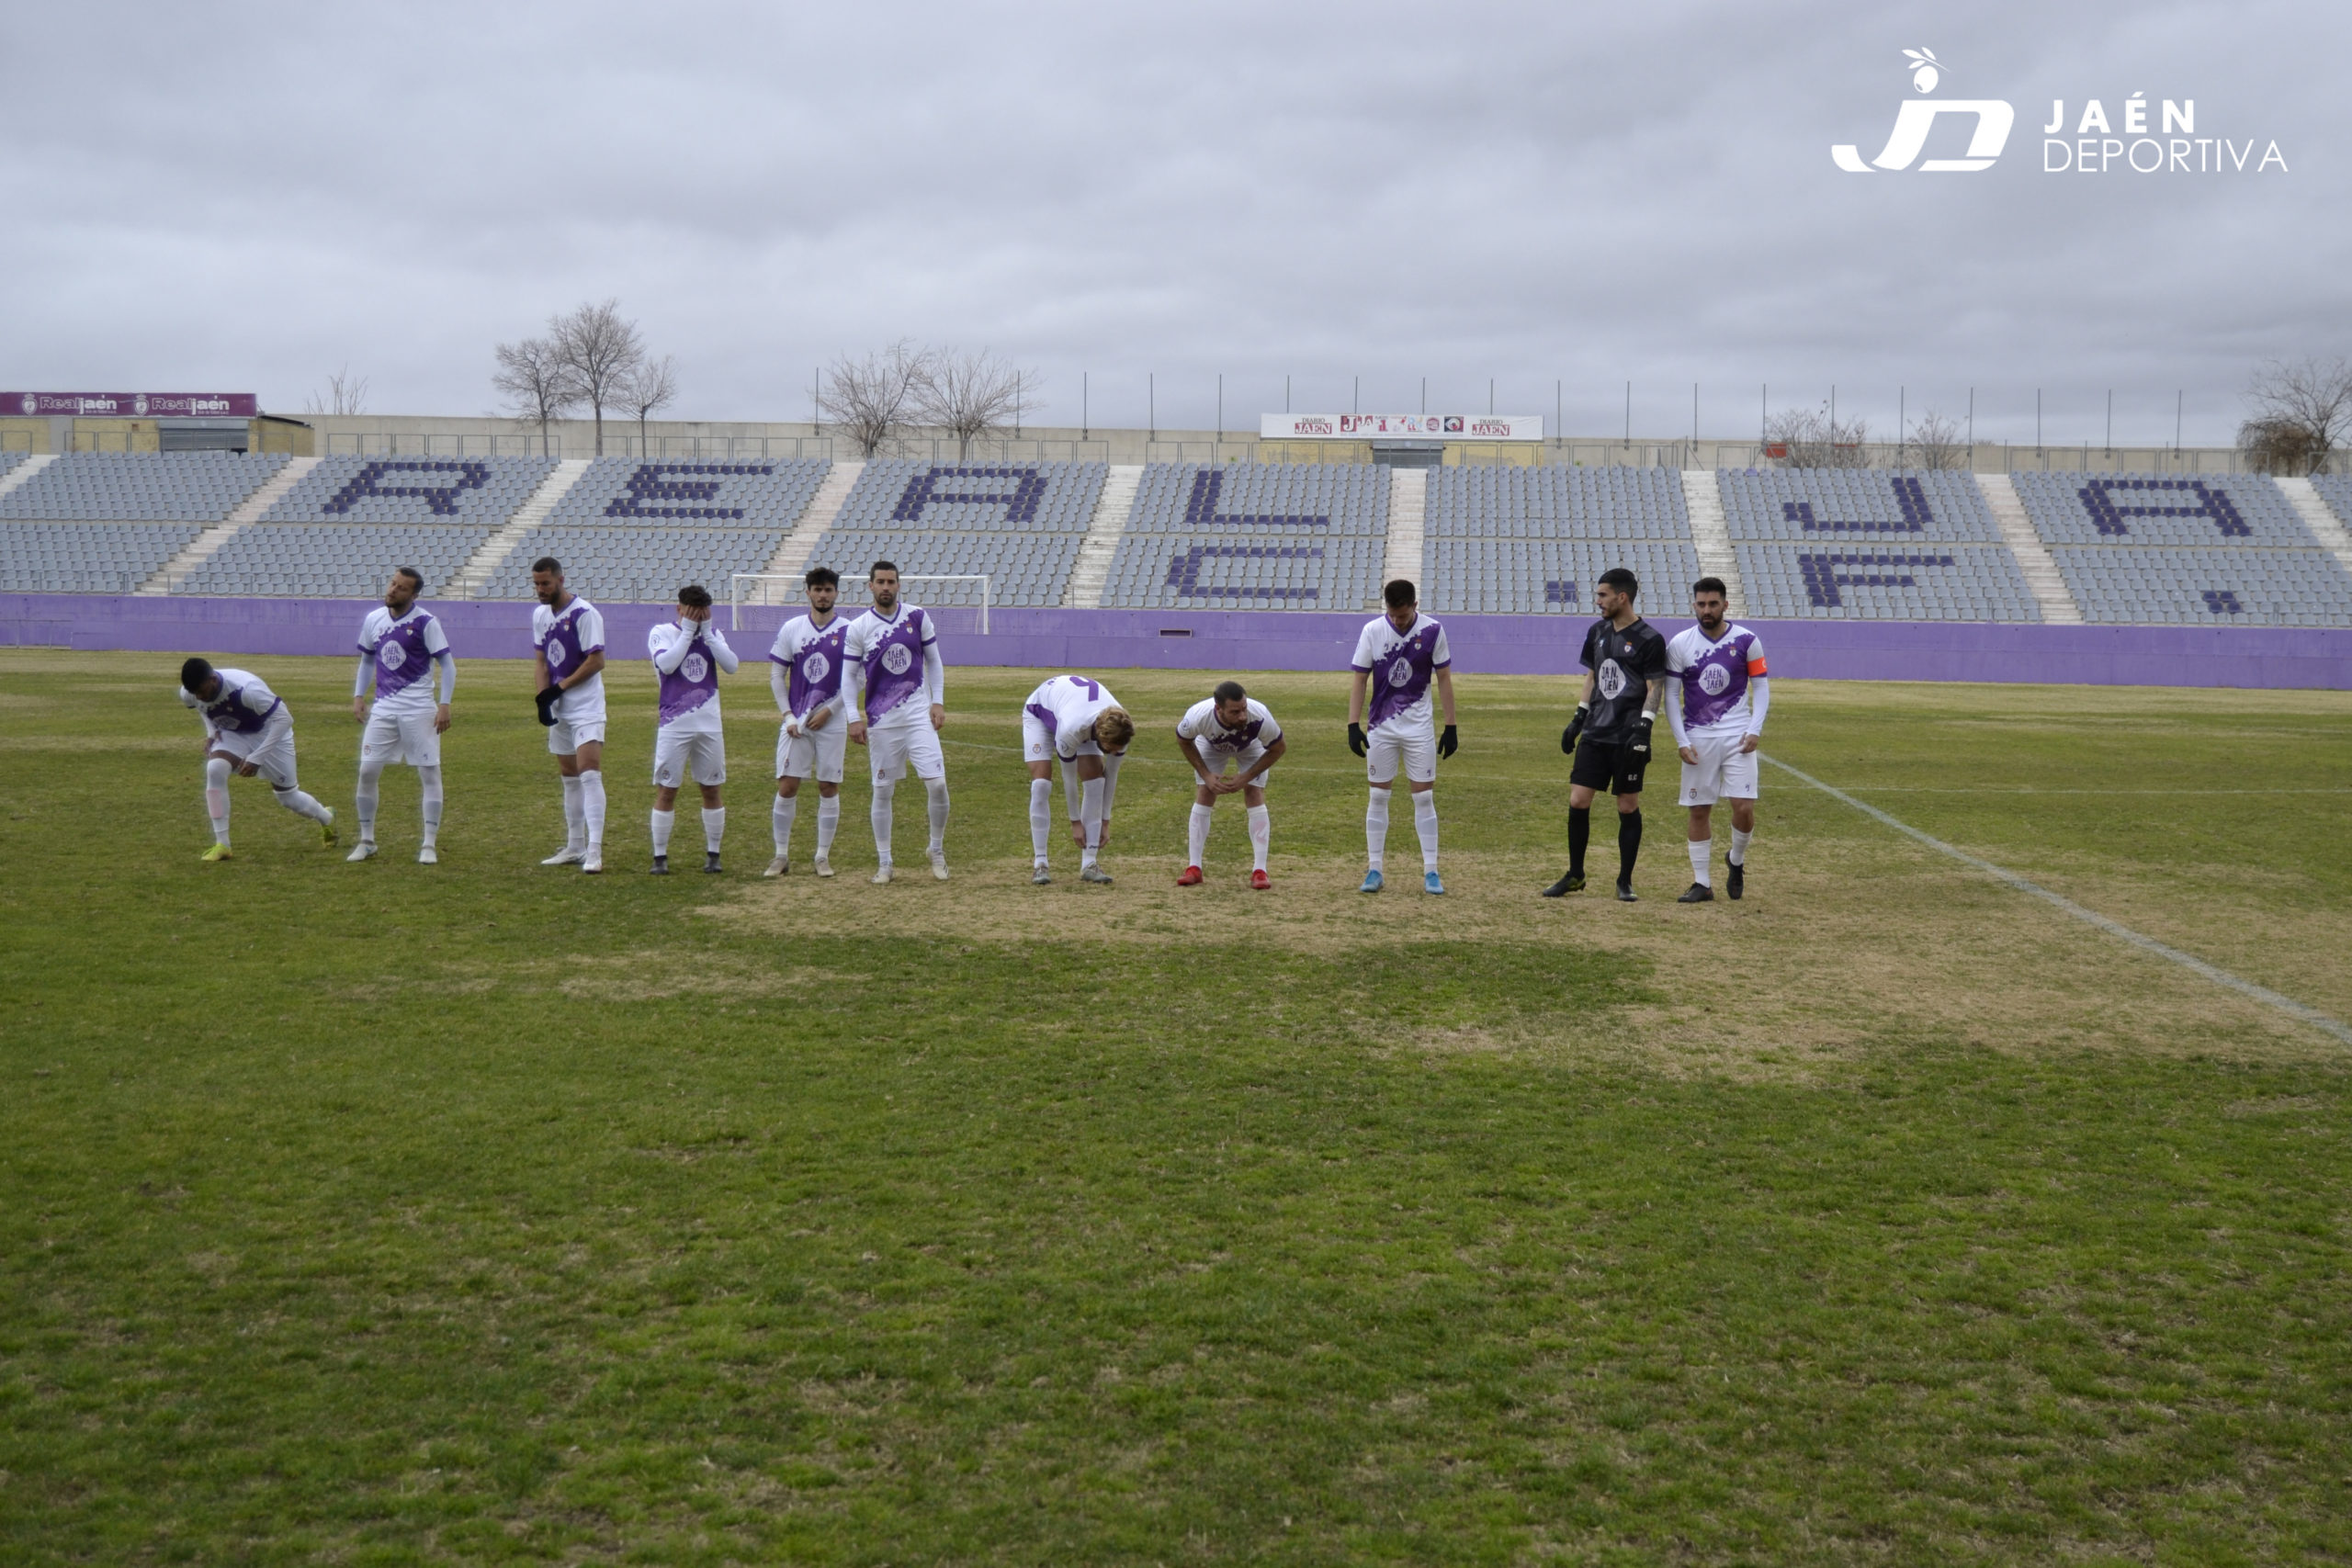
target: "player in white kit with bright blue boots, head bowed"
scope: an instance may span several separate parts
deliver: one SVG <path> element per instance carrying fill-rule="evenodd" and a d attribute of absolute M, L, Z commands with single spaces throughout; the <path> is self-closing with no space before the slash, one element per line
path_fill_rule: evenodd
<path fill-rule="evenodd" d="M 1414 585 L 1397 578 L 1381 590 L 1388 614 L 1371 621 L 1355 639 L 1355 682 L 1348 689 L 1348 750 L 1369 755 L 1371 806 L 1364 811 L 1364 849 L 1371 867 L 1359 893 L 1381 891 L 1388 858 L 1388 790 L 1404 769 L 1414 792 L 1414 832 L 1421 835 L 1421 889 L 1444 893 L 1437 879 L 1437 759 L 1451 757 L 1454 738 L 1454 656 L 1446 651 L 1446 628 L 1421 614 Z M 1430 679 L 1444 701 L 1446 729 L 1430 724 Z M 1364 733 L 1364 689 L 1371 689 L 1371 733 Z"/>

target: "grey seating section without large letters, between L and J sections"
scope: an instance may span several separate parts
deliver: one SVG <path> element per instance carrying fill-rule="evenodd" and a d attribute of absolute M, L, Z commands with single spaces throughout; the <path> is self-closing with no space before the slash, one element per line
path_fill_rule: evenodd
<path fill-rule="evenodd" d="M 1609 567 L 1642 578 L 1646 609 L 1682 614 L 1700 576 L 1672 468 L 1432 468 L 1428 477 L 1421 599 L 1432 614 L 1590 616 L 1592 581 Z"/>

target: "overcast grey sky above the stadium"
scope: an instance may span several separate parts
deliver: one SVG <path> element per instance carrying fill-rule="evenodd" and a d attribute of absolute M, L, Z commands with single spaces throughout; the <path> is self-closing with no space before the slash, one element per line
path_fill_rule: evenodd
<path fill-rule="evenodd" d="M 12 7 L 0 388 L 259 390 L 348 364 L 485 414 L 492 346 L 616 296 L 687 418 L 807 418 L 894 336 L 1044 376 L 1040 423 L 1555 411 L 1700 435 L 1818 402 L 1983 440 L 2223 442 L 2352 350 L 2352 9 L 2303 5 Z M 1844 174 L 2006 99 L 1983 174 Z M 2100 99 L 2246 172 L 2044 174 Z M 2159 129 L 2159 127 L 2157 127 Z M 2093 132 L 2096 136 L 2096 132 Z M 1964 129 L 1926 155 L 1957 155 Z M 2288 172 L 2256 174 L 2277 141 Z M 2145 153 L 2143 153 L 2145 158 Z"/>

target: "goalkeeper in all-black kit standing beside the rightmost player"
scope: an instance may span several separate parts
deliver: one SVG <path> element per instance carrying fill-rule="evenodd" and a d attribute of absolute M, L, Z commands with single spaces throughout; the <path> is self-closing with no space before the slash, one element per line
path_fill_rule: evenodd
<path fill-rule="evenodd" d="M 1618 898 L 1635 903 L 1632 863 L 1642 853 L 1642 771 L 1649 766 L 1649 726 L 1665 701 L 1665 637 L 1635 614 L 1642 581 L 1611 567 L 1592 588 L 1602 618 L 1585 632 L 1585 686 L 1576 717 L 1559 731 L 1569 769 L 1569 875 L 1543 889 L 1545 898 L 1581 893 L 1585 844 L 1592 839 L 1592 797 L 1618 797 Z M 1583 748 L 1576 738 L 1583 736 Z"/>

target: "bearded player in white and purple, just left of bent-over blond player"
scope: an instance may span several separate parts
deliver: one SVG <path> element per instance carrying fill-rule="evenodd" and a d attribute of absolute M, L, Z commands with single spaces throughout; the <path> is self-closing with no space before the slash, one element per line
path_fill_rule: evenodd
<path fill-rule="evenodd" d="M 906 769 L 931 809 L 931 875 L 948 879 L 948 762 L 938 752 L 938 726 L 948 722 L 948 665 L 938 656 L 931 616 L 898 602 L 898 567 L 875 562 L 866 571 L 875 607 L 849 623 L 842 637 L 849 686 L 849 738 L 873 752 L 875 882 L 891 879 L 891 795 Z"/>

